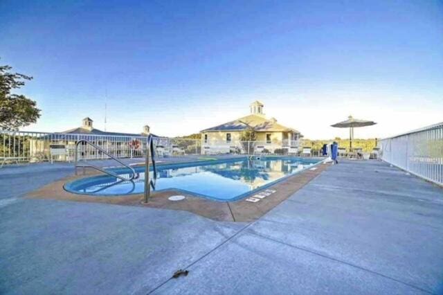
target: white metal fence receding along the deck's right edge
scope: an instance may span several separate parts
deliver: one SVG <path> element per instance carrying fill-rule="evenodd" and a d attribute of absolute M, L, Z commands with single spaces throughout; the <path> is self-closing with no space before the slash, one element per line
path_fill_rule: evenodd
<path fill-rule="evenodd" d="M 443 122 L 379 141 L 381 159 L 443 185 Z"/>

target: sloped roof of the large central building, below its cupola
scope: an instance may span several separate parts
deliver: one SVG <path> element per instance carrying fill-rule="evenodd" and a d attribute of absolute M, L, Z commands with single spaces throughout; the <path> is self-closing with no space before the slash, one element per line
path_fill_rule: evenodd
<path fill-rule="evenodd" d="M 300 133 L 296 129 L 289 128 L 277 123 L 275 120 L 268 120 L 263 116 L 255 114 L 238 118 L 215 127 L 201 130 L 201 132 L 215 132 L 215 131 L 242 131 L 251 126 L 257 132 L 294 132 Z"/>

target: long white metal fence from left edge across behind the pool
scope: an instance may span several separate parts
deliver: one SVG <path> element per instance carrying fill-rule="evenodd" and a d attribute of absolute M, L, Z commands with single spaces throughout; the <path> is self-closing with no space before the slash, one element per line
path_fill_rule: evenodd
<path fill-rule="evenodd" d="M 48 132 L 0 131 L 0 166 L 6 163 L 73 161 L 75 144 L 80 139 L 91 143 L 118 158 L 145 156 L 147 136 L 114 136 L 96 134 L 62 134 Z M 157 157 L 177 157 L 196 154 L 278 154 L 304 155 L 315 153 L 299 147 L 298 141 L 211 141 L 188 138 L 154 138 Z M 107 159 L 108 156 L 80 144 L 78 159 Z"/>

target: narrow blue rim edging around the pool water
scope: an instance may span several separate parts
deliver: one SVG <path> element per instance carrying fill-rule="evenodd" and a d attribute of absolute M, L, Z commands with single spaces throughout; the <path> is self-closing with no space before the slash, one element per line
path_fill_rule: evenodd
<path fill-rule="evenodd" d="M 255 188 L 253 190 L 250 190 L 246 193 L 242 193 L 241 195 L 237 195 L 235 197 L 233 197 L 232 199 L 219 199 L 217 197 L 210 197 L 208 195 L 204 195 L 204 194 L 199 194 L 199 193 L 195 193 L 192 192 L 190 190 L 183 190 L 181 188 L 163 188 L 161 190 L 154 190 L 155 192 L 166 192 L 166 191 L 170 191 L 170 190 L 175 190 L 179 193 L 186 193 L 186 194 L 190 194 L 190 195 L 195 195 L 197 197 L 201 197 L 204 199 L 208 199 L 210 201 L 215 201 L 215 202 L 236 202 L 239 201 L 241 199 L 244 199 L 246 197 L 250 197 L 251 195 L 255 195 L 255 193 L 257 193 L 260 190 L 263 190 L 265 188 L 269 188 L 270 186 L 273 186 L 275 184 L 278 184 L 281 181 L 284 181 L 285 179 L 288 179 L 289 177 L 292 177 L 294 175 L 298 175 L 300 172 L 303 172 L 307 169 L 310 168 L 314 168 L 315 166 L 318 166 L 321 163 L 324 163 L 326 158 L 323 157 L 291 157 L 291 156 L 266 156 L 266 155 L 253 155 L 253 156 L 242 156 L 242 157 L 235 157 L 235 158 L 230 158 L 230 159 L 217 159 L 217 160 L 208 160 L 208 161 L 187 161 L 187 162 L 181 162 L 181 163 L 159 163 L 163 169 L 168 169 L 168 166 L 170 166 L 170 168 L 188 168 L 188 167 L 193 167 L 193 166 L 208 166 L 208 165 L 212 165 L 212 164 L 217 164 L 217 163 L 230 163 L 230 162 L 235 162 L 235 161 L 239 161 L 239 160 L 243 160 L 243 159 L 248 159 L 249 157 L 269 157 L 269 158 L 273 158 L 273 159 L 315 159 L 318 160 L 315 163 L 311 163 L 309 166 L 298 170 L 297 172 L 288 174 L 288 175 L 284 175 L 283 177 L 280 177 L 278 179 L 275 179 L 274 181 L 271 181 L 267 184 L 264 184 L 263 186 L 260 186 L 258 188 Z M 199 164 L 199 165 L 195 165 L 195 164 Z M 138 166 L 138 167 L 143 167 L 143 166 Z M 150 171 L 152 171 L 153 167 L 150 166 Z M 123 172 L 123 171 L 127 171 L 127 168 L 111 168 L 109 169 L 112 172 Z M 66 182 L 66 184 L 64 184 L 63 189 L 66 190 L 66 192 L 68 193 L 73 193 L 75 195 L 87 195 L 87 196 L 91 196 L 91 197 L 122 197 L 125 195 L 140 195 L 143 193 L 137 192 L 137 193 L 127 193 L 127 194 L 91 194 L 91 193 L 80 193 L 77 190 L 73 190 L 71 188 L 72 184 L 78 184 L 78 182 L 81 183 L 82 180 L 87 180 L 87 179 L 96 179 L 96 180 L 100 180 L 101 178 L 107 178 L 109 177 L 109 175 L 96 175 L 96 176 L 88 176 L 88 177 L 83 177 L 80 179 L 75 179 L 73 181 L 69 181 Z"/>

